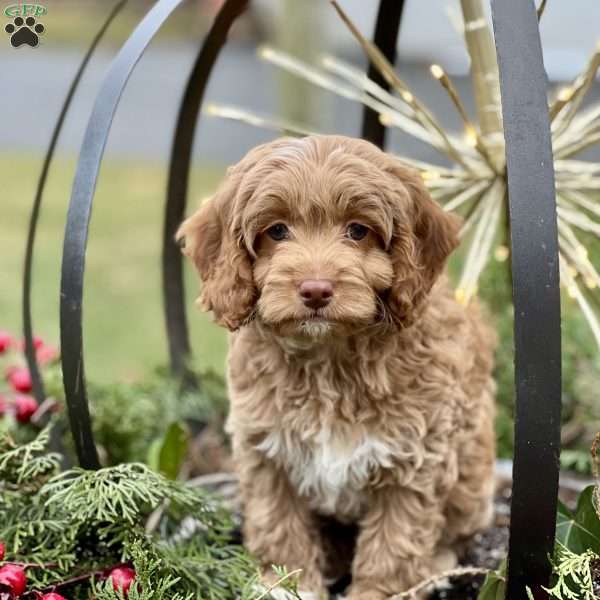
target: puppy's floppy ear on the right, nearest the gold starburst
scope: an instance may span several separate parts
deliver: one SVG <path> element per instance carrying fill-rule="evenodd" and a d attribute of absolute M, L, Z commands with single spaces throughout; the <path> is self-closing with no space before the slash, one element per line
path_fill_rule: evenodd
<path fill-rule="evenodd" d="M 420 174 L 397 161 L 388 169 L 408 195 L 408 214 L 395 225 L 392 240 L 394 283 L 387 299 L 399 327 L 414 322 L 418 308 L 458 246 L 460 220 L 445 212 L 429 195 Z M 402 217 L 400 217 L 402 219 Z"/>

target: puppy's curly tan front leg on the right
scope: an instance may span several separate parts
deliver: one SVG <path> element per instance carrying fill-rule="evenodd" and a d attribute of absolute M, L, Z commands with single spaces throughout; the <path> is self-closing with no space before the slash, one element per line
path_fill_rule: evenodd
<path fill-rule="evenodd" d="M 360 523 L 346 600 L 383 600 L 431 575 L 443 521 L 429 494 L 392 485 L 374 491 Z"/>

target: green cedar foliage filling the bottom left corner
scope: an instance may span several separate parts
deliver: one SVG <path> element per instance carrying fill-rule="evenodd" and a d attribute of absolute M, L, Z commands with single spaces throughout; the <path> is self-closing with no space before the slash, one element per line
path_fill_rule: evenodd
<path fill-rule="evenodd" d="M 28 565 L 29 597 L 116 600 L 106 577 L 120 564 L 136 570 L 132 600 L 257 597 L 257 565 L 215 498 L 142 463 L 61 472 L 48 438 L 0 441 L 0 540 Z"/>

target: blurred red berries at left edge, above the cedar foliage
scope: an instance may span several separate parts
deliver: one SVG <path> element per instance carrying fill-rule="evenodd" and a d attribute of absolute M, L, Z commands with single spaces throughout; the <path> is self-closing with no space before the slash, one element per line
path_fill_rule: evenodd
<path fill-rule="evenodd" d="M 35 336 L 33 338 L 36 358 L 40 366 L 46 366 L 56 361 L 58 350 L 46 345 L 44 341 Z M 12 414 L 18 423 L 29 423 L 39 406 L 31 395 L 32 381 L 27 367 L 22 364 L 24 342 L 16 340 L 6 331 L 0 331 L 0 355 L 8 361 L 4 370 L 5 379 L 9 387 L 8 393 L 0 390 L 0 417 Z"/>

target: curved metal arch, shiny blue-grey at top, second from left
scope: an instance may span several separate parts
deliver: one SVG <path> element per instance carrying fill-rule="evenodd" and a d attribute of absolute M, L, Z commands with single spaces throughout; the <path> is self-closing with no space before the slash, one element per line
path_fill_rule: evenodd
<path fill-rule="evenodd" d="M 89 118 L 67 214 L 60 292 L 61 362 L 71 432 L 81 466 L 98 468 L 83 355 L 82 301 L 85 251 L 94 191 L 110 126 L 127 81 L 152 38 L 184 0 L 159 0 L 114 59 Z"/>

